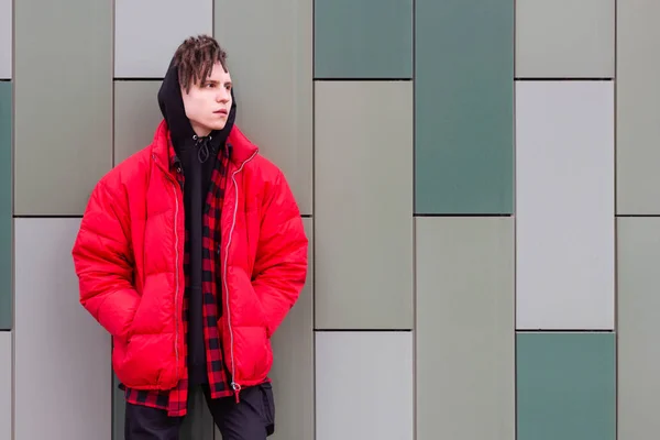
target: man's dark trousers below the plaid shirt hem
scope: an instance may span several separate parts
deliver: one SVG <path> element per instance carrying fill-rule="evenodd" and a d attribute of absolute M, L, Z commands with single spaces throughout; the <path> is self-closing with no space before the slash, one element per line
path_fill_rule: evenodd
<path fill-rule="evenodd" d="M 204 387 L 206 403 L 222 440 L 265 440 L 275 430 L 275 402 L 270 383 L 243 388 L 235 398 L 211 399 Z M 190 393 L 193 396 L 193 393 Z M 125 440 L 178 440 L 184 417 L 168 417 L 163 409 L 127 403 Z"/>

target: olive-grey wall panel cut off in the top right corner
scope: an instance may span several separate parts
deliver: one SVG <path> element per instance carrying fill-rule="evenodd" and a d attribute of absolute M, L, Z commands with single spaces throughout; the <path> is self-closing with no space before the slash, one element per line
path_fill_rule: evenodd
<path fill-rule="evenodd" d="M 660 215 L 660 2 L 617 1 L 617 213 Z"/>

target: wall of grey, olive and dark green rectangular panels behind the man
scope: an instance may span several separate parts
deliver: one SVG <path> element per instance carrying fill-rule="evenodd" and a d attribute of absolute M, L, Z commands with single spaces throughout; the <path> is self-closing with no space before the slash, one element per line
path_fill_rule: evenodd
<path fill-rule="evenodd" d="M 274 439 L 657 437 L 659 20 L 641 0 L 0 0 L 0 440 L 122 438 L 70 248 L 197 33 L 312 244 L 274 336 Z M 219 439 L 198 404 L 185 437 Z"/>

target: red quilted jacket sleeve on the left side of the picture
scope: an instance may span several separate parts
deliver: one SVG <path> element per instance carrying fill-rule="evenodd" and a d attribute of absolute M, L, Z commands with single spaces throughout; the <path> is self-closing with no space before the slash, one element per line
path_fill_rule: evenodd
<path fill-rule="evenodd" d="M 114 197 L 101 180 L 91 194 L 73 249 L 80 304 L 110 334 L 124 340 L 140 304 L 132 285 L 125 204 L 125 197 Z"/>

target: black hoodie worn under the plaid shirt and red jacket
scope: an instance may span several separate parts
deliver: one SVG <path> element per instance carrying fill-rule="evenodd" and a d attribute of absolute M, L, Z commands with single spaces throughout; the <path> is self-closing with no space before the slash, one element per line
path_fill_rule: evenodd
<path fill-rule="evenodd" d="M 237 105 L 233 99 L 224 129 L 212 131 L 208 136 L 195 134 L 190 121 L 186 117 L 178 69 L 174 58 L 169 63 L 161 89 L 158 106 L 169 129 L 177 163 L 182 167 L 184 185 L 185 224 L 188 233 L 186 251 L 189 252 L 188 279 L 188 375 L 189 385 L 208 383 L 206 366 L 206 346 L 204 341 L 202 319 L 202 228 L 206 197 L 211 182 L 211 173 L 216 166 L 218 152 L 224 148 L 229 132 L 233 127 Z M 218 292 L 220 295 L 220 292 Z M 221 304 L 217 301 L 216 304 Z M 218 307 L 218 318 L 222 310 Z"/>

